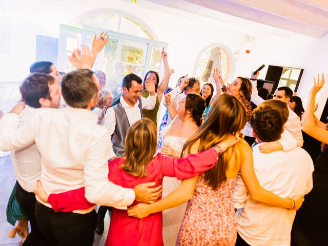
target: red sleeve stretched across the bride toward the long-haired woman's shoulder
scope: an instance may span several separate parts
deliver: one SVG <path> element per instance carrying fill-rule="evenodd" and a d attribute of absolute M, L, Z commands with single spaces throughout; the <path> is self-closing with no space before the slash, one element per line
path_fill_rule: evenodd
<path fill-rule="evenodd" d="M 163 176 L 177 177 L 177 179 L 192 178 L 213 168 L 219 157 L 213 148 L 182 159 L 158 155 L 160 155 L 159 160 L 162 161 Z"/>

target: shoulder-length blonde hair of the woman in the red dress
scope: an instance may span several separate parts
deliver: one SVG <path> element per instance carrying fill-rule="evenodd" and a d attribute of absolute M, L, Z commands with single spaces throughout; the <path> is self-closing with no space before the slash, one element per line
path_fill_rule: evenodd
<path fill-rule="evenodd" d="M 135 177 L 147 176 L 146 167 L 157 150 L 157 128 L 147 118 L 136 121 L 128 130 L 125 141 L 125 163 L 127 173 Z"/>

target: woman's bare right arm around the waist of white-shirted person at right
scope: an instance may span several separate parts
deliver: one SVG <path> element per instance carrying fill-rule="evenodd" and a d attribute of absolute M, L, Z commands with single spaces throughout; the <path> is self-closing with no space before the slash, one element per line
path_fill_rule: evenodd
<path fill-rule="evenodd" d="M 303 196 L 293 197 L 293 199 L 281 198 L 270 191 L 264 190 L 255 175 L 250 146 L 244 144 L 242 148 L 245 158 L 241 164 L 240 173 L 252 199 L 275 207 L 298 210 L 304 201 Z"/>

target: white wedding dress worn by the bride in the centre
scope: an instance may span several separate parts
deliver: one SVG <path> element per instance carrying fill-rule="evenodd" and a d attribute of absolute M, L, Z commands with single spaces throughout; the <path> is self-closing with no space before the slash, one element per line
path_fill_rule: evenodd
<path fill-rule="evenodd" d="M 169 125 L 162 129 L 162 143 L 170 145 L 173 150 L 181 153 L 182 147 L 185 144 L 187 138 L 167 135 L 167 132 L 173 125 L 173 122 L 175 121 L 176 117 L 177 116 L 174 117 L 174 119 Z M 175 177 L 164 177 L 162 198 L 166 197 L 172 191 L 177 189 L 180 186 L 180 183 L 181 180 L 177 180 L 177 178 Z M 178 236 L 182 218 L 185 215 L 186 208 L 187 202 L 181 204 L 178 207 L 167 209 L 162 212 L 164 246 L 175 245 L 175 241 Z"/>

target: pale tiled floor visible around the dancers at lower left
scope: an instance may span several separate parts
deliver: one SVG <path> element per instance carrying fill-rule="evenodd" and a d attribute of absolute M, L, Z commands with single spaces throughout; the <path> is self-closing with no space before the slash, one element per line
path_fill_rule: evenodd
<path fill-rule="evenodd" d="M 16 235 L 15 238 L 9 238 L 8 233 L 12 228 L 11 224 L 7 222 L 6 208 L 10 193 L 14 187 L 16 178 L 10 156 L 0 158 L 0 245 L 1 246 L 18 246 L 22 238 Z M 93 246 L 103 246 L 105 244 L 109 228 L 108 213 L 105 217 L 105 233 L 103 236 L 95 234 Z"/>

